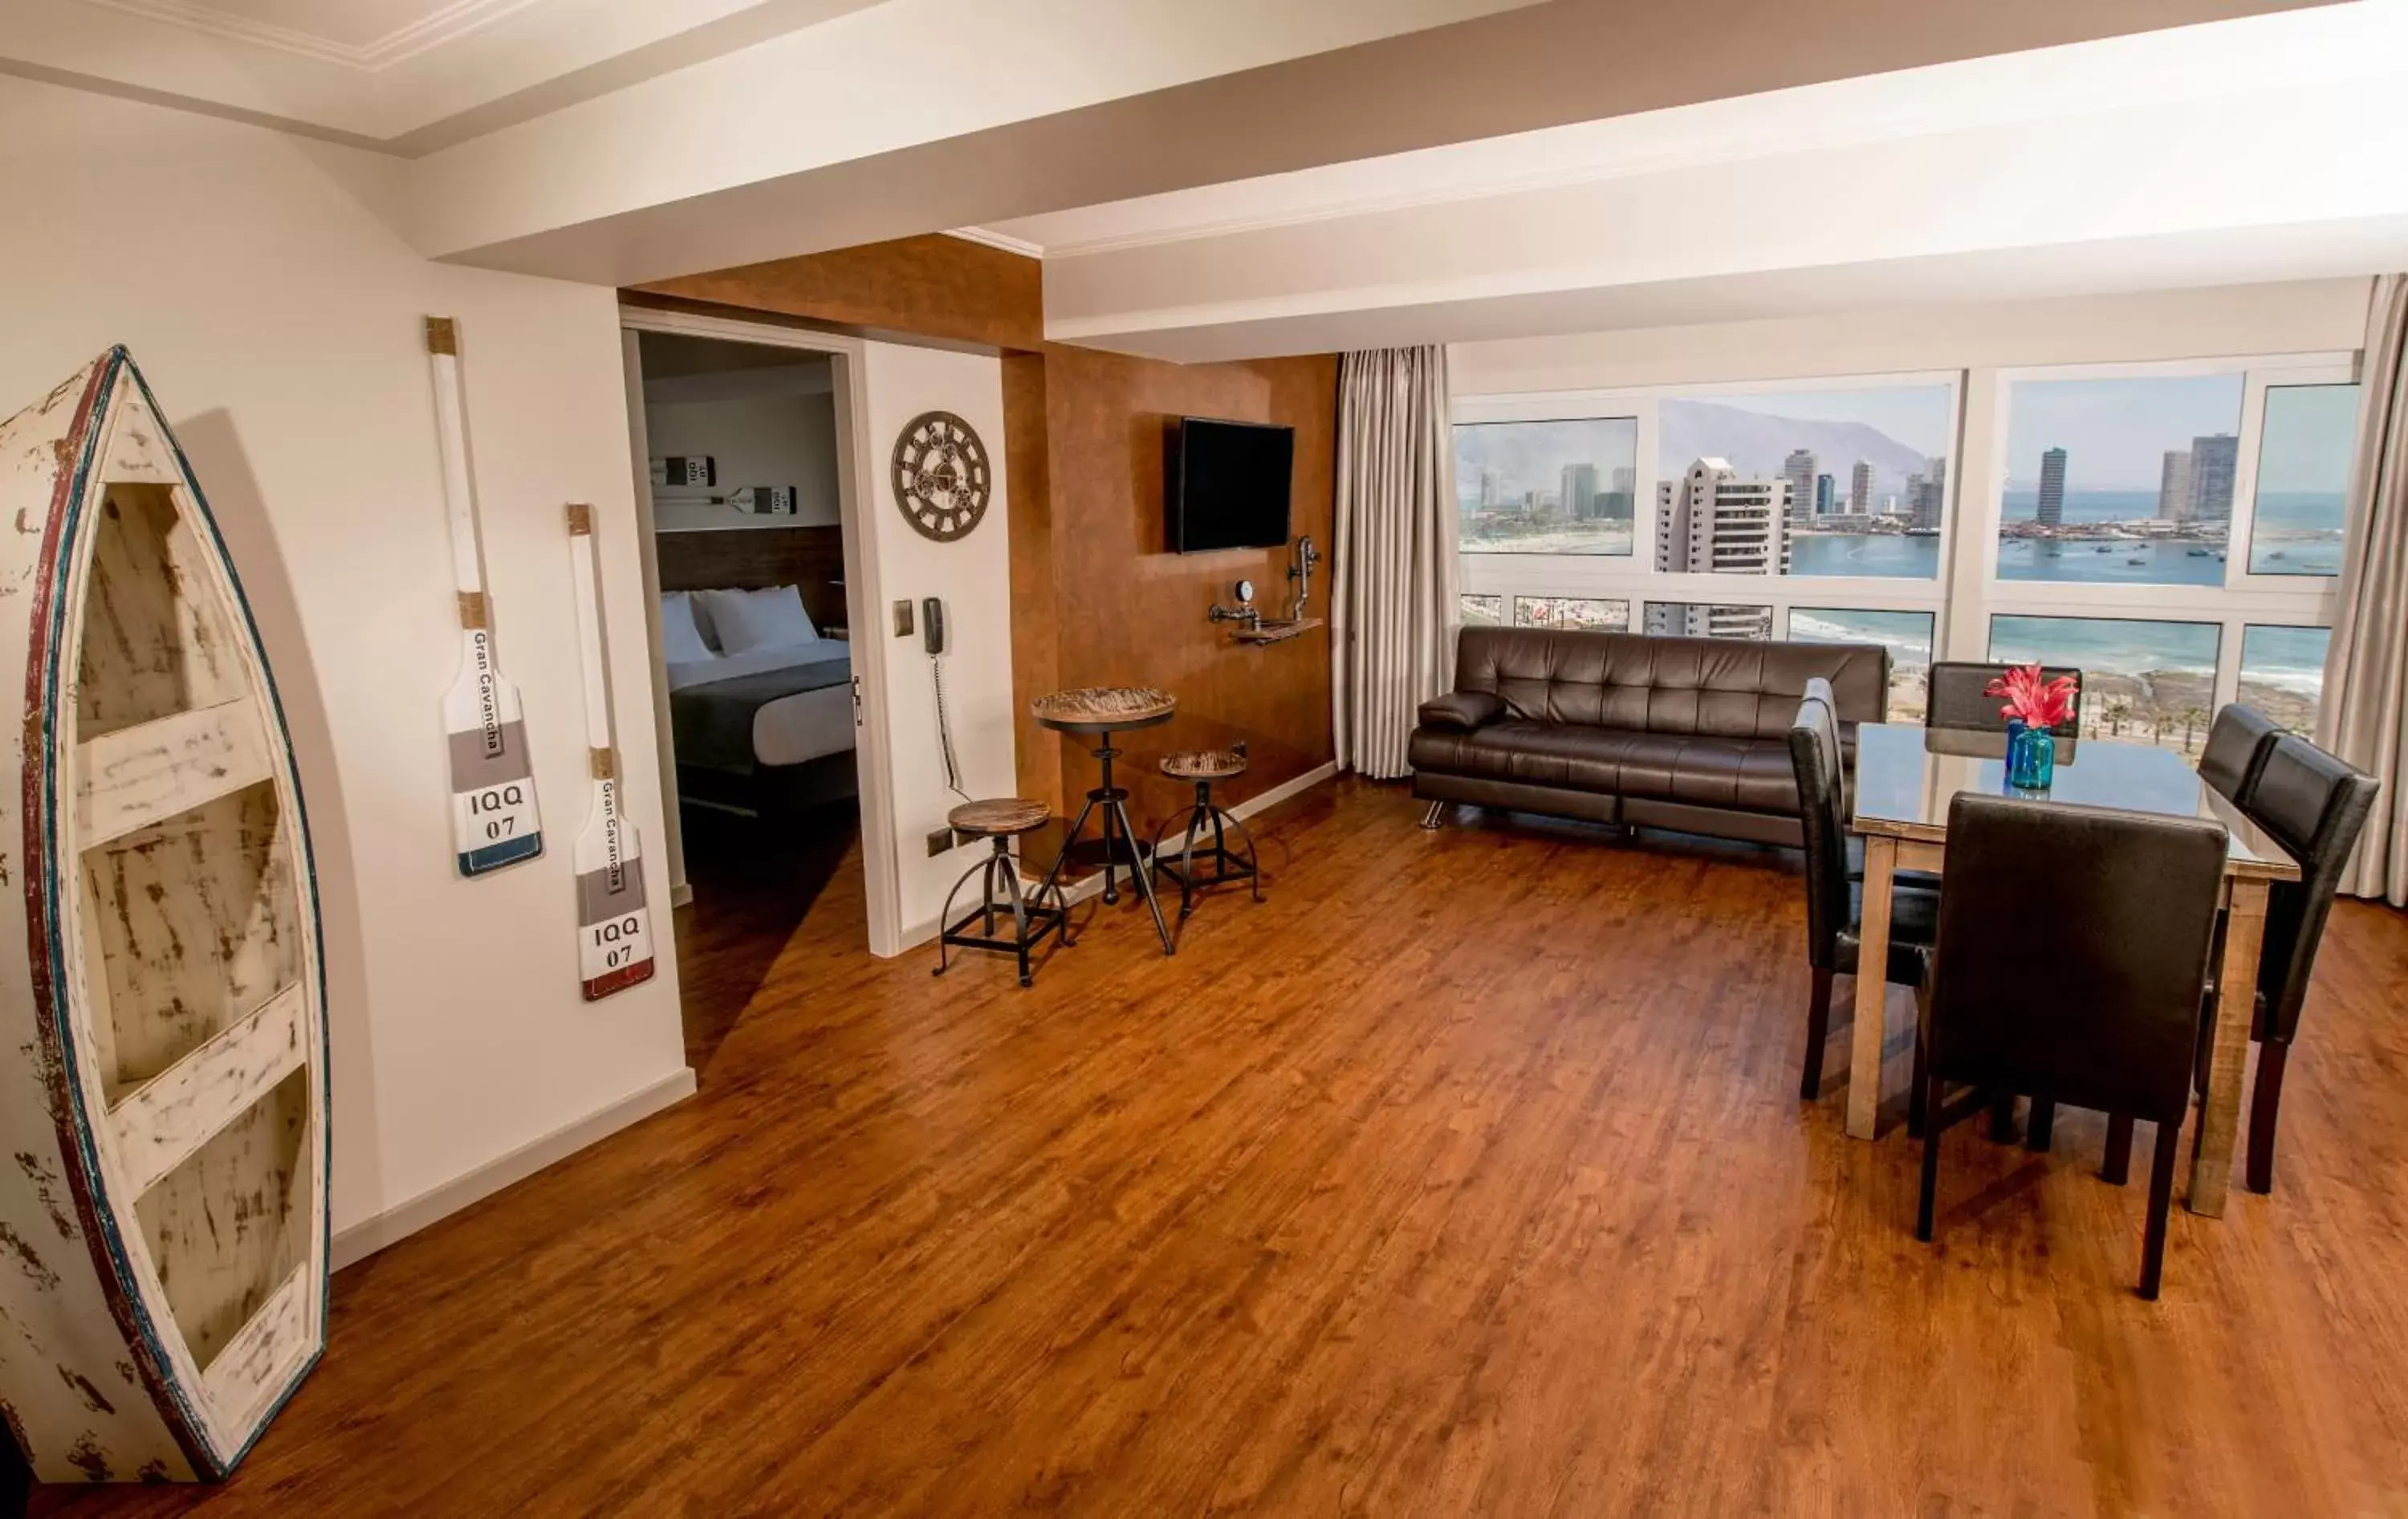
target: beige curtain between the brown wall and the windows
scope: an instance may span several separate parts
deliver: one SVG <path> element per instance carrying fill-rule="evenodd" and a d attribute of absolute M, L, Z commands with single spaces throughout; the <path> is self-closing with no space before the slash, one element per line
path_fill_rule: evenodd
<path fill-rule="evenodd" d="M 1329 688 L 1339 768 L 1406 775 L 1413 708 L 1454 684 L 1454 419 L 1447 349 L 1339 359 Z"/>

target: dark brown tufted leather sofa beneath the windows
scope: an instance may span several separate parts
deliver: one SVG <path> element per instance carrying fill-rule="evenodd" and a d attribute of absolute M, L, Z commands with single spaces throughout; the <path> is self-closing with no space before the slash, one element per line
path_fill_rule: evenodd
<path fill-rule="evenodd" d="M 1464 628 L 1454 691 L 1421 703 L 1413 794 L 1799 845 L 1789 722 L 1813 676 L 1854 751 L 1888 708 L 1881 645 Z"/>

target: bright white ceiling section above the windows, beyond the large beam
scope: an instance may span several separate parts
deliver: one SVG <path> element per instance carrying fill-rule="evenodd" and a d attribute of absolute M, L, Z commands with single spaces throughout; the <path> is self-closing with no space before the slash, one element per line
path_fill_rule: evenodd
<path fill-rule="evenodd" d="M 1830 79 L 966 229 L 1163 359 L 2408 265 L 2408 0 Z"/>

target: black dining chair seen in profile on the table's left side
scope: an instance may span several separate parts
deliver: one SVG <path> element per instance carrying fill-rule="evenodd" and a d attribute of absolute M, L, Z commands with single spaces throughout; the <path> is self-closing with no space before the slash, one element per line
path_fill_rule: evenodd
<path fill-rule="evenodd" d="M 1820 686 L 1820 691 L 1818 691 Z M 1799 782 L 1799 828 L 1806 843 L 1806 963 L 1813 989 L 1806 1001 L 1806 1066 L 1799 1076 L 1799 1100 L 1823 1095 L 1823 1045 L 1830 1040 L 1830 982 L 1835 975 L 1859 975 L 1859 927 L 1864 922 L 1864 881 L 1847 869 L 1845 753 L 1840 720 L 1832 715 L 1830 684 L 1808 681 L 1789 725 L 1789 766 Z M 1922 975 L 1922 951 L 1931 944 L 1936 898 L 1929 891 L 1890 893 L 1888 980 L 1912 987 Z"/>

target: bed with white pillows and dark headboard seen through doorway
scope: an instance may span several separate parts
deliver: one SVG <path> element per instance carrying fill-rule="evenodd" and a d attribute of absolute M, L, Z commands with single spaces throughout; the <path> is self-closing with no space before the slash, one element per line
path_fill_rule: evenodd
<path fill-rule="evenodd" d="M 665 628 L 679 799 L 771 816 L 852 797 L 852 645 L 838 530 L 662 532 L 655 542 L 665 599 L 790 585 L 809 616 L 797 638 L 739 652 L 681 648 Z M 710 628 L 708 616 L 698 621 Z"/>

